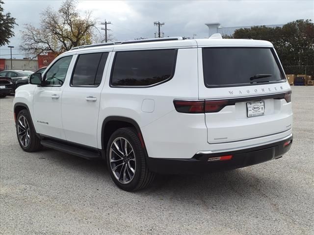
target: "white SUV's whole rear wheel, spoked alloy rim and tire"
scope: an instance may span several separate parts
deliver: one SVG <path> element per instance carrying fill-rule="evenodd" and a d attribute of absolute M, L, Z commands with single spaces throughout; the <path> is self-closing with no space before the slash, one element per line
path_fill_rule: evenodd
<path fill-rule="evenodd" d="M 134 128 L 120 128 L 107 144 L 106 161 L 114 183 L 123 190 L 147 187 L 155 174 L 148 169 L 145 151 Z"/>

